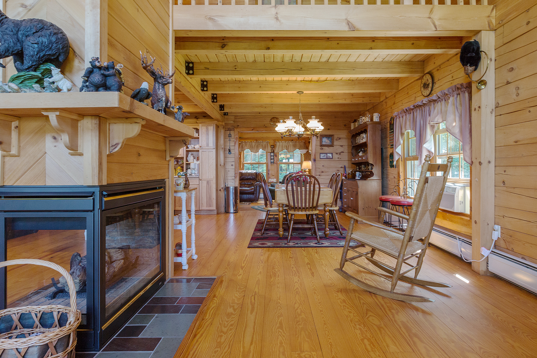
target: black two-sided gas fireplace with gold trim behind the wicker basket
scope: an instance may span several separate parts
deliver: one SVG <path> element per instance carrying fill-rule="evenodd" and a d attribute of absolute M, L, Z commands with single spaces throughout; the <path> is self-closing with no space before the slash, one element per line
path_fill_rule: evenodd
<path fill-rule="evenodd" d="M 82 311 L 77 350 L 102 348 L 164 283 L 165 192 L 163 180 L 0 187 L 0 259 L 42 259 L 70 271 Z M 2 309 L 69 304 L 52 269 L 0 270 Z"/>

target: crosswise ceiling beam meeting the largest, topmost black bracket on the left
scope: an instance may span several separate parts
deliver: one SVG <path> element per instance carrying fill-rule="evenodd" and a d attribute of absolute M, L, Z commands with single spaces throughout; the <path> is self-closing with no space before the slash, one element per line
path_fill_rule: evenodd
<path fill-rule="evenodd" d="M 418 77 L 423 61 L 194 62 L 188 77 Z"/>

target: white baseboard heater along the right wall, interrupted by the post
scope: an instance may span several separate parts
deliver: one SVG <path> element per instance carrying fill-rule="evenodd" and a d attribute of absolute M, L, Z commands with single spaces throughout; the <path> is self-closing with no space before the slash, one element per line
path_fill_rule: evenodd
<path fill-rule="evenodd" d="M 466 260 L 471 259 L 471 241 L 457 237 L 452 233 L 434 228 L 429 242 L 442 250 L 461 257 L 459 253 L 459 239 L 461 252 Z M 537 265 L 524 261 L 508 253 L 492 249 L 489 255 L 489 271 L 503 277 L 520 287 L 537 293 Z"/>

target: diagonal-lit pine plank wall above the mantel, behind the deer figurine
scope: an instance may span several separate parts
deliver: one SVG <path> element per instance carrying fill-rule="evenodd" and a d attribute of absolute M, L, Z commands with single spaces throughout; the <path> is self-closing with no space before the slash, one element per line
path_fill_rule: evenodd
<path fill-rule="evenodd" d="M 108 1 L 108 60 L 122 63 L 127 96 L 153 78 L 142 69 L 140 51 L 156 58 L 155 68 L 169 70 L 170 2 L 169 0 Z M 170 93 L 170 86 L 166 92 Z"/>

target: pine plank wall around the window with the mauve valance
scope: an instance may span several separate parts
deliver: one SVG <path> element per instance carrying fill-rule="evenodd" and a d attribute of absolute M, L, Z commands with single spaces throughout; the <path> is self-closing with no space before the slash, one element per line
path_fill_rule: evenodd
<path fill-rule="evenodd" d="M 425 60 L 425 72 L 429 72 L 433 77 L 433 91 L 431 96 L 454 84 L 469 82 L 459 62 L 459 54 L 442 54 L 429 57 L 429 59 Z M 388 127 L 390 117 L 395 112 L 401 111 L 401 109 L 424 99 L 420 91 L 420 80 L 421 78 L 415 77 L 400 79 L 400 90 L 368 109 L 371 113 L 380 113 L 380 119 L 382 121 L 382 194 L 389 194 L 396 185 L 397 180 L 400 179 L 400 162 L 397 162 L 396 168 L 390 168 L 389 166 L 389 155 L 394 150 L 394 148 L 389 148 Z M 471 235 L 471 221 L 468 217 L 439 211 L 436 224 L 460 232 L 463 235 Z"/>

